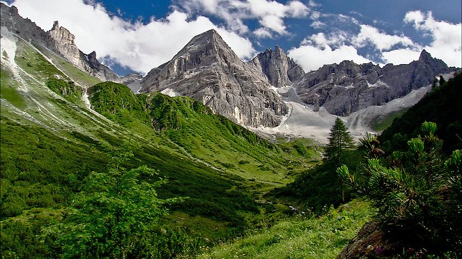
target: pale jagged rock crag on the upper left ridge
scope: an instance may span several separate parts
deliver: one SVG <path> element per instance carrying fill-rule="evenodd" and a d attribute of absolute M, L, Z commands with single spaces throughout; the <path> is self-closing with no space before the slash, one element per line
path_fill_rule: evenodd
<path fill-rule="evenodd" d="M 101 81 L 122 82 L 116 73 L 98 61 L 96 52 L 91 52 L 88 55 L 81 52 L 75 45 L 75 36 L 68 29 L 59 26 L 57 21 L 54 22 L 53 28 L 48 31 L 48 34 L 52 38 L 52 44 L 58 49 L 59 53 L 77 68 L 84 70 Z"/>

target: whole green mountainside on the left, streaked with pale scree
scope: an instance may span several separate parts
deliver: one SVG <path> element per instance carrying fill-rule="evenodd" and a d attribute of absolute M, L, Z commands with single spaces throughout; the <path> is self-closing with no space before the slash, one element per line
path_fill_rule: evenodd
<path fill-rule="evenodd" d="M 41 243 L 40 235 L 63 222 L 63 214 L 73 210 L 68 201 L 86 188 L 88 175 L 107 172 L 114 152 L 124 147 L 134 154 L 124 168 L 146 165 L 156 171 L 139 185 L 168 178 L 159 196 L 185 197 L 166 205 L 169 214 L 158 233 L 147 230 L 154 242 L 164 240 L 158 247 L 166 250 L 189 243 L 211 246 L 243 234 L 259 223 L 263 211 L 278 217 L 284 206 L 262 201 L 261 190 L 291 182 L 319 157 L 308 141 L 270 143 L 191 97 L 135 95 L 122 84 L 100 82 L 49 44 L 48 33 L 3 13 L 14 8 L 1 8 L 2 256 L 64 256 L 63 245 Z M 3 19 L 24 24 L 14 29 Z M 191 251 L 190 257 L 199 250 Z"/>

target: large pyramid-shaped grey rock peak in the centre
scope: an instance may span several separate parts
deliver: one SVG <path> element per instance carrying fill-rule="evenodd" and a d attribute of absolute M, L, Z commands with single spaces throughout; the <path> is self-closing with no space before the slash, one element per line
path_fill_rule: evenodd
<path fill-rule="evenodd" d="M 236 123 L 276 126 L 288 107 L 265 75 L 241 61 L 215 30 L 192 38 L 171 61 L 141 80 L 141 93 L 174 91 L 193 97 Z"/>

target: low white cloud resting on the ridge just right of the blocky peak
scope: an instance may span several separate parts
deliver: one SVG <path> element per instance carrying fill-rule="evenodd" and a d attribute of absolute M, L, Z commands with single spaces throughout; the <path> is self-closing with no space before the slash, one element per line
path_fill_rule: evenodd
<path fill-rule="evenodd" d="M 344 60 L 351 60 L 355 63 L 369 63 L 369 59 L 357 54 L 357 50 L 352 46 L 341 45 L 337 49 L 332 49 L 329 45 L 323 48 L 311 45 L 302 45 L 288 51 L 288 56 L 299 63 L 305 71 L 317 70 L 325 64 L 340 63 Z"/>

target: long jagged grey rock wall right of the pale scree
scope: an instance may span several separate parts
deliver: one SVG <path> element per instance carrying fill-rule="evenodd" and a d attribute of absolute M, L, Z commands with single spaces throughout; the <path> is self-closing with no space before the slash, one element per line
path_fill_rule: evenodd
<path fill-rule="evenodd" d="M 324 65 L 305 74 L 295 89 L 300 100 L 314 105 L 315 110 L 324 107 L 334 115 L 348 116 L 429 86 L 436 76 L 452 70 L 423 50 L 418 61 L 406 65 L 388 64 L 380 68 L 372 63 L 357 65 L 352 61 Z"/>

